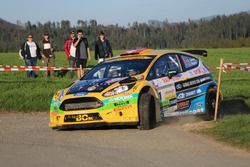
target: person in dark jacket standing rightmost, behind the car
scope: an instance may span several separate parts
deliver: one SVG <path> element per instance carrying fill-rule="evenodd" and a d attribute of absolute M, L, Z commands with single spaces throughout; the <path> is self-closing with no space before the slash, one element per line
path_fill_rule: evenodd
<path fill-rule="evenodd" d="M 101 31 L 95 43 L 95 59 L 102 62 L 110 56 L 113 57 L 112 47 L 104 32 Z"/>

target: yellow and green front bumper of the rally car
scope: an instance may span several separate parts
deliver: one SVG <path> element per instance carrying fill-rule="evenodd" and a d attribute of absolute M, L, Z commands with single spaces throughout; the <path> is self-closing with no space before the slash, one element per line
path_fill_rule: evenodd
<path fill-rule="evenodd" d="M 69 99 L 71 99 L 70 97 Z M 66 100 L 66 99 L 65 99 Z M 51 128 L 69 125 L 95 125 L 95 124 L 135 124 L 138 117 L 138 95 L 119 96 L 101 100 L 103 106 L 84 110 L 61 110 L 62 103 L 53 99 L 50 107 Z"/>

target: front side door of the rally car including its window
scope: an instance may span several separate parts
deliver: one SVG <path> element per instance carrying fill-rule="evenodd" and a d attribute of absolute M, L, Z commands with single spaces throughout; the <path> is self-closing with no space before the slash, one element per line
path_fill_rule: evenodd
<path fill-rule="evenodd" d="M 180 73 L 181 64 L 176 54 L 161 56 L 149 72 L 147 79 L 159 95 L 162 117 L 174 115 L 177 110 L 175 82 L 181 79 Z"/>

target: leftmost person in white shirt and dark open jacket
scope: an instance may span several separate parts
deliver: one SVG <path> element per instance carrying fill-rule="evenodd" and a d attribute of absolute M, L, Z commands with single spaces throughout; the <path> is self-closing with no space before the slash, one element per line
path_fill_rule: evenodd
<path fill-rule="evenodd" d="M 37 59 L 41 59 L 40 48 L 36 42 L 33 41 L 32 34 L 27 36 L 27 41 L 21 46 L 21 55 L 25 61 L 26 66 L 36 66 Z M 27 71 L 27 77 L 36 78 L 34 71 Z"/>

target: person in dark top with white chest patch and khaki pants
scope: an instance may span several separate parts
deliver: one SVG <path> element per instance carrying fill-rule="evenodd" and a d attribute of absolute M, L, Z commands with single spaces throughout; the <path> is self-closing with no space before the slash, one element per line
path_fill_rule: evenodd
<path fill-rule="evenodd" d="M 55 67 L 55 46 L 53 41 L 49 38 L 49 33 L 43 34 L 43 39 L 40 41 L 39 46 L 41 48 L 41 55 L 43 58 L 43 64 L 46 67 Z M 50 71 L 50 75 L 54 77 L 54 71 Z M 49 76 L 49 71 L 45 71 L 44 75 Z"/>

